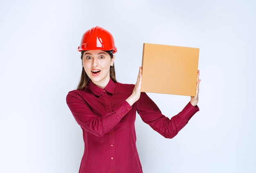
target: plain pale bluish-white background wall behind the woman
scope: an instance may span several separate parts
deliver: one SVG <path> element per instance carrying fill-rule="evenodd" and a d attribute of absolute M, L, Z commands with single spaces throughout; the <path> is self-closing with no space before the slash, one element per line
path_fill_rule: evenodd
<path fill-rule="evenodd" d="M 255 9 L 252 0 L 1 0 L 0 173 L 78 172 L 82 131 L 65 97 L 94 26 L 115 38 L 121 83 L 135 83 L 144 42 L 200 48 L 200 112 L 189 124 L 165 139 L 137 116 L 144 173 L 255 173 Z M 170 118 L 190 99 L 149 96 Z"/>

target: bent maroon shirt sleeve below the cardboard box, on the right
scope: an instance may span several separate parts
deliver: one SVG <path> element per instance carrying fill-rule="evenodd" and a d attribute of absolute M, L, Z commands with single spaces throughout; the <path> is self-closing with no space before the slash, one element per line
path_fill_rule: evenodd
<path fill-rule="evenodd" d="M 189 102 L 179 114 L 169 119 L 161 113 L 146 93 L 141 92 L 141 97 L 137 101 L 137 112 L 141 119 L 165 138 L 176 136 L 198 111 L 198 106 L 194 107 Z"/>

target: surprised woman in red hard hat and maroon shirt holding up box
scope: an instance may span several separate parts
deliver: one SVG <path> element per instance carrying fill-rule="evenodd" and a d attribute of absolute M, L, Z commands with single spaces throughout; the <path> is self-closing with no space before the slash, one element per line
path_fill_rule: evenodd
<path fill-rule="evenodd" d="M 142 173 L 136 149 L 135 115 L 165 138 L 173 138 L 199 111 L 199 71 L 195 97 L 171 120 L 141 92 L 142 69 L 135 85 L 118 83 L 112 35 L 98 26 L 86 31 L 81 45 L 82 74 L 67 105 L 83 130 L 85 150 L 79 173 Z"/>

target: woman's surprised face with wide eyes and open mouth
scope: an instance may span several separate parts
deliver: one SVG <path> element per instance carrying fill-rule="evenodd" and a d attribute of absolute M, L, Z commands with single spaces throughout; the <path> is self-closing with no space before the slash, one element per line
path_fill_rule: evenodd
<path fill-rule="evenodd" d="M 88 50 L 83 53 L 83 68 L 91 81 L 100 88 L 105 88 L 110 80 L 110 66 L 115 56 L 103 50 Z"/>

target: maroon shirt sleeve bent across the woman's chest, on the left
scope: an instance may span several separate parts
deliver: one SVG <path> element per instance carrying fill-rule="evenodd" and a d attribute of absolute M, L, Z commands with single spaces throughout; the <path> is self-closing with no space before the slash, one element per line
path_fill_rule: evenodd
<path fill-rule="evenodd" d="M 123 101 L 115 110 L 97 116 L 83 101 L 83 98 L 75 92 L 69 92 L 66 101 L 76 122 L 83 129 L 95 136 L 104 136 L 107 134 L 132 109 L 129 103 Z"/>

